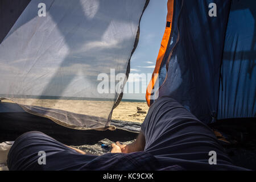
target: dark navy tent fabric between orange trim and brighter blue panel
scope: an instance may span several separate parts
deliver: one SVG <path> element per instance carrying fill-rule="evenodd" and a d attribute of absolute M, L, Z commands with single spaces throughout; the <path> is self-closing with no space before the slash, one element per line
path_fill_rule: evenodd
<path fill-rule="evenodd" d="M 216 3 L 217 16 L 208 7 Z M 171 96 L 204 123 L 217 114 L 220 67 L 230 1 L 175 1 L 172 31 L 178 35 L 159 97 Z M 176 20 L 177 19 L 177 20 Z M 168 58 L 167 58 L 168 59 Z"/>

